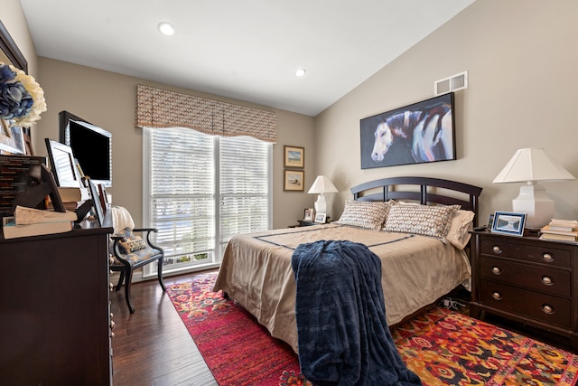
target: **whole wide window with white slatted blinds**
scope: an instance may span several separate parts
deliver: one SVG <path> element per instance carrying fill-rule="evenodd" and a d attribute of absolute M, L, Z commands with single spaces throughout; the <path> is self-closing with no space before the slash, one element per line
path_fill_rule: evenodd
<path fill-rule="evenodd" d="M 144 223 L 159 231 L 163 273 L 218 265 L 231 236 L 269 228 L 271 152 L 252 137 L 144 128 Z"/>

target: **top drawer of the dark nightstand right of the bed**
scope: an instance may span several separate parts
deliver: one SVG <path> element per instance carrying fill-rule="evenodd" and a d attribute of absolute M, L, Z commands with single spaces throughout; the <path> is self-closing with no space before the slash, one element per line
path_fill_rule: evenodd
<path fill-rule="evenodd" d="M 570 268 L 570 249 L 551 248 L 552 243 L 544 246 L 530 245 L 516 241 L 504 241 L 495 238 L 482 240 L 480 252 L 485 255 L 510 259 L 523 259 L 536 263 L 551 264 L 556 267 Z"/>

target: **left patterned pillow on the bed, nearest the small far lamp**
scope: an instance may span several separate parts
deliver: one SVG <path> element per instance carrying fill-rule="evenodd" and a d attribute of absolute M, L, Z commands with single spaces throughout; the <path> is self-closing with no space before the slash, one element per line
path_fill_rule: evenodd
<path fill-rule="evenodd" d="M 340 220 L 336 222 L 379 231 L 386 221 L 387 212 L 391 206 L 392 202 L 348 200 L 345 202 Z"/>

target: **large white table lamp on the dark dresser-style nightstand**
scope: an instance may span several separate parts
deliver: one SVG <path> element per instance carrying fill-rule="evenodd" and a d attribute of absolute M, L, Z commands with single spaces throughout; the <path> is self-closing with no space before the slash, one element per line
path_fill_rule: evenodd
<path fill-rule="evenodd" d="M 520 193 L 512 200 L 512 210 L 527 213 L 526 228 L 540 229 L 554 217 L 555 203 L 545 193 L 539 181 L 574 180 L 562 165 L 547 155 L 541 147 L 517 150 L 504 166 L 494 184 L 526 183 L 520 186 Z"/>

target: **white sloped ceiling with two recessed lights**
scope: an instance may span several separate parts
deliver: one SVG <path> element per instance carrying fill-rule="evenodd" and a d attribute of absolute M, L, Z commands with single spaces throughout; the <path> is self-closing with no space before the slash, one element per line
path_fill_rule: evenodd
<path fill-rule="evenodd" d="M 21 3 L 39 56 L 316 116 L 473 1 Z"/>

